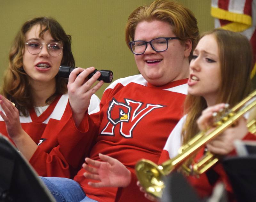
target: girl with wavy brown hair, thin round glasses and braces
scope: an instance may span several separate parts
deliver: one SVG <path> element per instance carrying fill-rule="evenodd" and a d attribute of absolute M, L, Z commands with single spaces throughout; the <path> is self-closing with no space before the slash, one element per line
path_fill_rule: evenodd
<path fill-rule="evenodd" d="M 80 165 L 69 165 L 61 157 L 62 144 L 57 139 L 69 113 L 68 81 L 58 75 L 60 65 L 75 66 L 71 36 L 52 18 L 25 22 L 11 47 L 4 75 L 0 133 L 11 138 L 39 175 L 69 178 Z M 93 95 L 88 112 L 99 102 Z"/>

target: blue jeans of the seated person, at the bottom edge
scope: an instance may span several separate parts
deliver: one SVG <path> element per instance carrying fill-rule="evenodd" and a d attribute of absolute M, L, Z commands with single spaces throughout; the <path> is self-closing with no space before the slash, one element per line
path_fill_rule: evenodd
<path fill-rule="evenodd" d="M 97 202 L 75 181 L 64 177 L 40 177 L 57 202 Z"/>

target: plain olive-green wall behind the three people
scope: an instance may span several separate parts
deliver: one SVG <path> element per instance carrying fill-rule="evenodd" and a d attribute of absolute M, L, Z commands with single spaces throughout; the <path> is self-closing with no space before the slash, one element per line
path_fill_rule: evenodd
<path fill-rule="evenodd" d="M 124 40 L 129 14 L 152 0 L 0 0 L 0 81 L 8 66 L 8 52 L 21 25 L 28 19 L 49 16 L 57 19 L 72 36 L 76 66 L 110 69 L 114 80 L 138 74 L 133 54 Z M 179 0 L 198 19 L 200 31 L 213 28 L 210 0 Z M 102 96 L 104 86 L 96 93 Z"/>

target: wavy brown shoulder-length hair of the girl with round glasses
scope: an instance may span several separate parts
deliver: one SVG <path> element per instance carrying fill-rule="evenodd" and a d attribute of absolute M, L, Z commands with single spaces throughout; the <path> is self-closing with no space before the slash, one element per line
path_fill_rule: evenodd
<path fill-rule="evenodd" d="M 20 115 L 28 116 L 28 110 L 33 107 L 33 99 L 30 90 L 30 82 L 28 75 L 23 70 L 23 53 L 25 47 L 25 34 L 35 25 L 40 25 L 41 38 L 44 33 L 49 30 L 52 38 L 60 41 L 63 44 L 63 57 L 61 65 L 75 67 L 75 60 L 71 52 L 71 36 L 67 35 L 57 20 L 49 17 L 39 17 L 25 22 L 14 42 L 9 53 L 9 66 L 4 75 L 4 83 L 1 89 L 1 94 L 4 95 L 20 111 Z M 50 104 L 57 95 L 67 93 L 67 79 L 62 79 L 56 75 L 56 90 L 55 93 L 48 97 L 46 104 Z"/>

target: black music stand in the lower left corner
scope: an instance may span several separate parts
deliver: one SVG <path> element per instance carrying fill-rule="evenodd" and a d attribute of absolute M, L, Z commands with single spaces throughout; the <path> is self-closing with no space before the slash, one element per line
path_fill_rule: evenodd
<path fill-rule="evenodd" d="M 0 202 L 56 202 L 27 160 L 0 134 Z"/>

